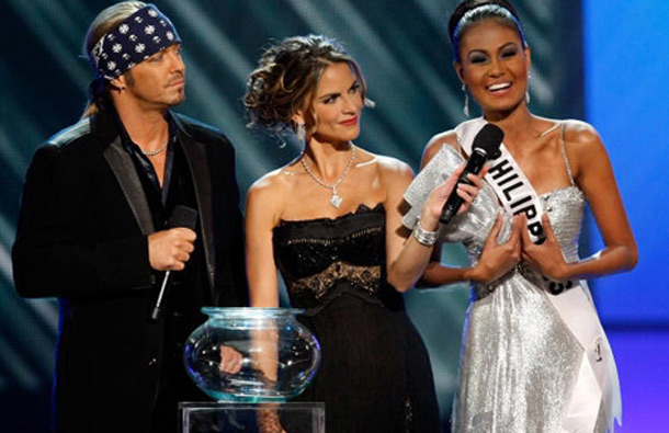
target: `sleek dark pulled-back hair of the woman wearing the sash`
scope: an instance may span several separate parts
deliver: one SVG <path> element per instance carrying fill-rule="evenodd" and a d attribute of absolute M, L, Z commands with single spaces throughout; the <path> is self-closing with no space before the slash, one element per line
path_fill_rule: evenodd
<path fill-rule="evenodd" d="M 486 20 L 497 20 L 518 32 L 523 47 L 528 46 L 525 33 L 515 8 L 507 0 L 465 0 L 461 2 L 449 20 L 449 37 L 453 45 L 455 60 L 460 61 L 460 39 L 472 24 Z"/>

